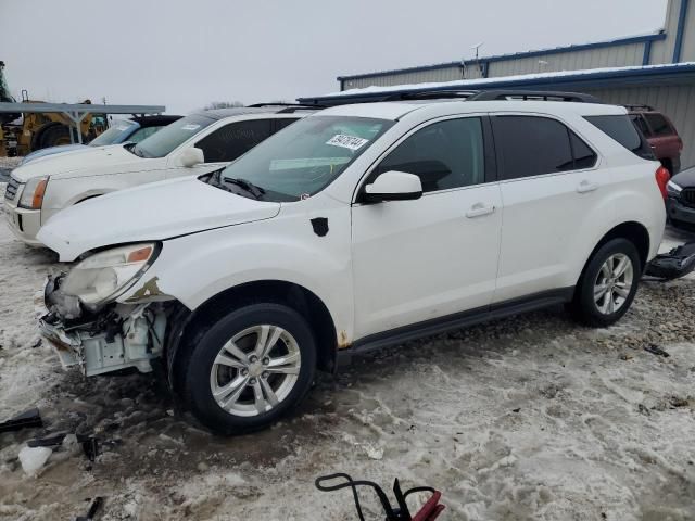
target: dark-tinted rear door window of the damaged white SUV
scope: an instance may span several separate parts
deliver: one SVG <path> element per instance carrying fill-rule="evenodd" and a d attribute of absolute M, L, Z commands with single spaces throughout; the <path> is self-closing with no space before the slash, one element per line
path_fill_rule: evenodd
<path fill-rule="evenodd" d="M 502 179 L 591 168 L 596 163 L 594 151 L 555 119 L 494 116 L 492 128 Z"/>

